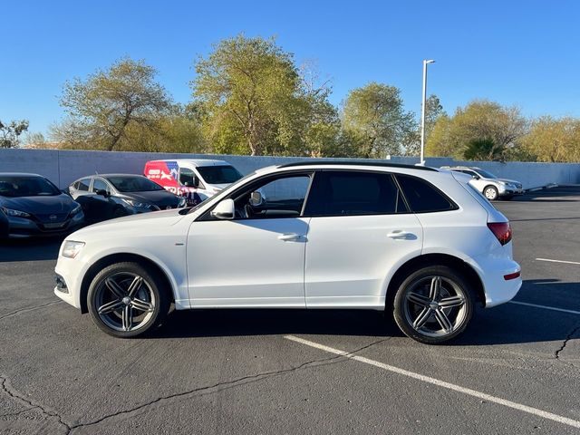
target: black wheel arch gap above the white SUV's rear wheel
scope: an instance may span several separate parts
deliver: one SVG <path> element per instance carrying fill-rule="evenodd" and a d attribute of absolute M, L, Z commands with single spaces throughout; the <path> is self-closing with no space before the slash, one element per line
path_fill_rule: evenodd
<path fill-rule="evenodd" d="M 401 285 L 402 281 L 415 270 L 424 266 L 449 266 L 465 275 L 475 291 L 476 301 L 485 306 L 486 294 L 483 282 L 479 277 L 477 271 L 468 263 L 458 258 L 457 256 L 450 256 L 449 254 L 424 254 L 422 256 L 415 256 L 401 265 L 397 271 L 392 275 L 389 285 L 387 286 L 385 298 L 385 310 L 391 310 L 397 287 Z"/>

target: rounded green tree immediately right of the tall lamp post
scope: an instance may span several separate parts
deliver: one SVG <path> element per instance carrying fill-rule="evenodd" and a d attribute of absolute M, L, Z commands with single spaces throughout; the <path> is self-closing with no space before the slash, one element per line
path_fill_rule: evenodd
<path fill-rule="evenodd" d="M 527 120 L 517 107 L 478 100 L 459 108 L 451 118 L 441 116 L 427 151 L 431 156 L 449 155 L 450 151 L 459 159 L 506 160 L 526 132 Z"/>

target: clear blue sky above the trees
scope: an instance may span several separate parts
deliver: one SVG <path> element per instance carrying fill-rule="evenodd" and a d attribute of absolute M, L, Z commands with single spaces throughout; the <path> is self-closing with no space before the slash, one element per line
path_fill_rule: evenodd
<path fill-rule="evenodd" d="M 331 101 L 367 82 L 401 89 L 420 111 L 421 60 L 446 111 L 476 98 L 527 116 L 580 116 L 580 2 L 575 1 L 6 1 L 0 26 L 0 120 L 45 133 L 63 116 L 63 83 L 121 56 L 158 68 L 188 102 L 199 55 L 244 33 L 275 35 L 296 63 L 314 62 Z"/>

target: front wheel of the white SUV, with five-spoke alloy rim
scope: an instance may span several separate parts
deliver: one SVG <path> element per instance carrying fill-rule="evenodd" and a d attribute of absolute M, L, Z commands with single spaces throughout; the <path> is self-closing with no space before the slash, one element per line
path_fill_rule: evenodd
<path fill-rule="evenodd" d="M 92 279 L 87 295 L 92 322 L 113 337 L 149 333 L 169 312 L 169 297 L 163 286 L 160 275 L 139 263 L 105 267 Z"/>

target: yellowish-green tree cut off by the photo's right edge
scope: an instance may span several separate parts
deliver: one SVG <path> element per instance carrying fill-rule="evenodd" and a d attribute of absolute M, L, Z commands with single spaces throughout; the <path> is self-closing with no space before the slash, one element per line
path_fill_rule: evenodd
<path fill-rule="evenodd" d="M 539 161 L 580 161 L 580 120 L 544 116 L 532 121 L 522 148 Z"/>

